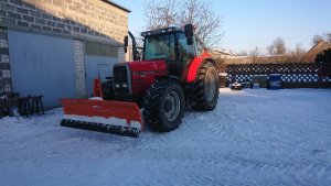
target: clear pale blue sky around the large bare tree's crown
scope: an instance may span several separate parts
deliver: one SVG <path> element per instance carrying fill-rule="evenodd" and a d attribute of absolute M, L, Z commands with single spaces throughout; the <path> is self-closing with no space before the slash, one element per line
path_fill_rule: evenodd
<path fill-rule="evenodd" d="M 131 10 L 129 30 L 145 30 L 143 0 L 114 0 Z M 331 32 L 331 0 L 211 0 L 223 19 L 220 47 L 234 52 L 266 47 L 282 37 L 288 48 L 309 50 L 316 34 Z"/>

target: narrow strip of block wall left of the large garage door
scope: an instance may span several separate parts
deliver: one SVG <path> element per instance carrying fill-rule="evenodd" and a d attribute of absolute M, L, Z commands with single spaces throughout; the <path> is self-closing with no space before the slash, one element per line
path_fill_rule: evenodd
<path fill-rule="evenodd" d="M 0 94 L 11 91 L 7 29 L 0 28 Z"/>

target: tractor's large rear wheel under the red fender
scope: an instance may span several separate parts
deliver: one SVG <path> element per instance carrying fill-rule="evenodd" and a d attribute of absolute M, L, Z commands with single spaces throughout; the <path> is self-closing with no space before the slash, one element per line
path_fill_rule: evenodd
<path fill-rule="evenodd" d="M 218 76 L 215 66 L 206 62 L 199 72 L 191 98 L 192 108 L 196 111 L 214 110 L 218 100 Z"/>

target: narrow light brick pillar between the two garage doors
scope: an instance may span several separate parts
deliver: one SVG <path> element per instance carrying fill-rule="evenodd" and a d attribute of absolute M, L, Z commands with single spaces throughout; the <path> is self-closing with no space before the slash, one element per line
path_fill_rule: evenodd
<path fill-rule="evenodd" d="M 75 78 L 76 94 L 78 98 L 86 97 L 85 85 L 85 65 L 84 65 L 84 43 L 81 40 L 74 40 L 74 61 L 75 61 Z"/>

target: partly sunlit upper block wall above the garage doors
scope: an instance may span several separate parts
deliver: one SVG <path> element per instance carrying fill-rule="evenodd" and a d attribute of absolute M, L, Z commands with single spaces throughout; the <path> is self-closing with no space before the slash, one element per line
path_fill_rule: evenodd
<path fill-rule="evenodd" d="M 0 25 L 122 44 L 128 12 L 103 0 L 1 0 Z"/>

